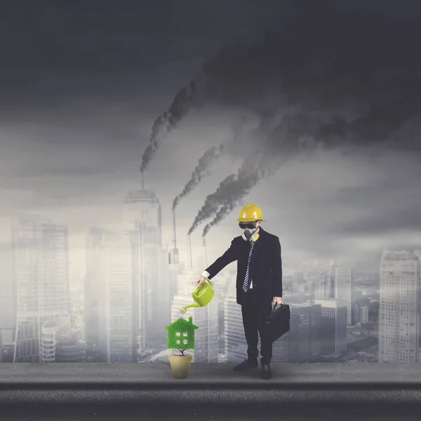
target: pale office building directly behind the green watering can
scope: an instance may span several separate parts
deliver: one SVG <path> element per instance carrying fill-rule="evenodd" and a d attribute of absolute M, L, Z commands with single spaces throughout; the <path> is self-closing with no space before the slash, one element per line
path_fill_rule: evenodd
<path fill-rule="evenodd" d="M 199 327 L 194 335 L 195 346 L 193 361 L 196 363 L 218 363 L 218 294 L 205 307 L 191 307 L 187 313 L 180 307 L 192 304 L 192 290 L 196 285 L 197 271 L 185 270 L 178 276 L 178 292 L 171 305 L 171 322 L 180 319 L 188 320 L 193 316 L 193 323 Z"/>

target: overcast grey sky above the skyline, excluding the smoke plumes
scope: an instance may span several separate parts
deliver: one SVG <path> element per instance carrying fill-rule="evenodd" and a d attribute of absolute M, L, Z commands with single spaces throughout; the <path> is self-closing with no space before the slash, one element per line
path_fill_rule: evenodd
<path fill-rule="evenodd" d="M 203 109 L 192 107 L 162 139 L 147 168 L 146 187 L 154 189 L 163 206 L 164 241 L 171 243 L 173 199 L 188 182 L 197 160 L 209 147 L 232 140 L 234 132 L 238 133 L 236 123 L 245 113 L 248 122 L 255 120 L 258 125 L 265 104 L 274 111 L 272 104 L 288 90 L 291 95 L 305 98 L 288 105 L 295 110 L 313 107 L 332 114 L 340 105 L 342 115 L 361 111 L 368 96 L 358 92 L 356 81 L 361 77 L 364 91 L 364 76 L 378 70 L 377 55 L 381 56 L 378 60 L 384 60 L 388 48 L 390 62 L 402 64 L 391 74 L 402 72 L 408 77 L 398 78 L 398 90 L 408 91 L 406 80 L 420 77 L 420 67 L 411 67 L 416 64 L 415 59 L 410 59 L 415 51 L 405 54 L 402 49 L 412 47 L 399 45 L 410 39 L 406 31 L 420 17 L 416 1 L 354 1 L 352 6 L 345 1 L 336 3 L 343 13 L 372 11 L 377 17 L 373 22 L 393 18 L 398 22 L 394 29 L 401 31 L 390 39 L 396 39 L 399 48 L 384 45 L 384 51 L 364 50 L 357 19 L 356 32 L 349 35 L 344 51 L 361 50 L 352 58 L 366 58 L 364 72 L 363 60 L 352 65 L 351 60 L 346 62 L 345 55 L 317 44 L 318 39 L 336 36 L 327 29 L 323 32 L 328 25 L 322 14 L 315 18 L 316 22 L 306 27 L 300 23 L 293 29 L 295 32 L 287 32 L 283 41 L 286 50 L 272 51 L 279 60 L 269 60 L 268 71 L 261 71 L 265 53 L 261 63 L 253 58 L 254 65 L 248 65 L 245 59 L 241 71 L 234 65 L 236 59 L 217 61 L 213 69 L 222 70 L 215 71 L 208 80 L 210 86 L 216 86 L 219 96 L 210 95 Z M 294 22 L 291 16 L 297 13 L 281 0 L 120 1 L 118 6 L 109 1 L 58 4 L 39 0 L 9 1 L 2 7 L 0 53 L 6 65 L 0 68 L 1 249 L 6 250 L 10 241 L 11 218 L 23 211 L 40 211 L 69 224 L 73 270 L 83 267 L 88 227 L 118 222 L 126 192 L 140 188 L 139 166 L 152 125 L 171 105 L 178 90 L 194 79 L 203 63 L 220 48 L 236 39 L 261 40 L 268 29 L 279 31 L 284 22 Z M 390 39 L 385 44 L 390 44 Z M 309 51 L 300 51 L 306 45 L 313 54 L 308 62 L 302 57 L 307 57 Z M 395 51 L 401 51 L 396 60 Z M 320 79 L 314 79 L 314 85 L 307 83 L 307 67 L 303 65 L 307 63 L 309 75 L 314 76 L 314 69 L 320 65 L 317 58 L 323 55 L 338 58 L 333 76 L 329 76 L 333 80 L 330 90 L 326 88 L 326 76 L 322 83 Z M 277 81 L 273 84 L 276 91 L 272 92 L 271 83 L 275 82 L 270 78 L 278 72 L 276 66 L 281 60 L 285 61 L 281 67 L 283 83 L 288 82 L 288 86 L 279 92 L 281 81 Z M 345 66 L 347 74 L 343 72 Z M 347 77 L 336 78 L 335 69 L 343 73 L 341 77 Z M 349 76 L 352 72 L 354 79 Z M 377 91 L 373 88 L 373 92 Z M 392 86 L 385 97 L 393 92 Z M 414 92 L 416 95 L 416 89 Z M 352 142 L 358 138 L 357 144 L 358 140 L 368 142 L 376 133 L 383 133 L 379 127 L 385 128 L 385 138 L 392 133 L 389 147 L 376 144 L 380 145 L 380 153 L 374 158 L 361 148 L 359 154 L 341 154 L 328 146 L 326 136 L 325 149 L 295 155 L 243 197 L 243 201 L 262 207 L 265 227 L 281 239 L 286 267 L 307 258 L 376 259 L 383 248 L 421 248 L 421 154 L 415 141 L 420 138 L 419 98 L 404 102 L 410 102 L 411 108 L 396 107 L 392 117 L 387 117 L 387 112 L 379 114 L 377 120 L 370 115 L 370 121 L 375 120 L 371 126 L 345 129 Z M 266 102 L 269 100 L 272 102 Z M 279 103 L 276 107 L 279 111 Z M 396 127 L 392 127 L 394 117 Z M 415 121 L 410 128 L 405 123 L 407 117 Z M 312 137 L 312 133 L 307 136 Z M 253 142 L 259 145 L 259 140 Z M 227 175 L 236 173 L 248 152 L 250 147 L 240 147 L 223 156 L 211 175 L 180 202 L 178 243 L 185 258 L 185 235 L 206 196 Z M 235 208 L 210 230 L 209 259 L 218 257 L 238 234 L 238 210 Z M 201 253 L 202 231 L 201 225 L 192 234 L 196 255 Z"/>

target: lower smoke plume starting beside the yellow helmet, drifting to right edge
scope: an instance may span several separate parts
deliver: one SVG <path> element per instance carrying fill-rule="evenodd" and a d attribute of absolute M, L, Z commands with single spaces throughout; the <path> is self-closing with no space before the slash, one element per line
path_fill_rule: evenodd
<path fill-rule="evenodd" d="M 417 93 L 421 95 L 421 87 Z M 397 110 L 399 106 L 400 108 Z M 327 149 L 337 149 L 348 145 L 352 151 L 359 153 L 366 153 L 367 147 L 377 147 L 381 151 L 387 140 L 393 142 L 394 133 L 403 128 L 406 121 L 413 116 L 420 115 L 417 114 L 418 111 L 421 112 L 419 104 L 417 106 L 405 95 L 387 104 L 372 106 L 366 114 L 350 122 L 340 116 L 335 116 L 334 121 L 328 123 L 319 116 L 309 114 L 286 116 L 267 138 L 262 155 L 260 159 L 254 161 L 254 166 L 245 161 L 236 178 L 231 183 L 224 183 L 218 188 L 218 198 L 223 199 L 219 205 L 214 203 L 213 208 L 218 208 L 218 211 L 214 214 L 213 220 L 203 229 L 203 238 L 208 234 L 210 228 L 218 225 L 238 206 L 241 199 L 262 178 L 279 171 L 283 162 L 299 153 L 303 148 L 308 149 L 321 143 Z M 387 116 L 389 117 L 387 122 L 382 123 Z M 300 142 L 309 135 L 314 137 L 315 142 Z M 405 140 L 401 140 L 399 145 L 403 145 L 404 142 Z M 253 161 L 253 156 L 250 158 L 249 161 Z M 208 209 L 210 210 L 210 208 Z M 205 210 L 206 208 L 203 206 L 196 220 L 212 216 L 210 212 L 205 213 Z"/>

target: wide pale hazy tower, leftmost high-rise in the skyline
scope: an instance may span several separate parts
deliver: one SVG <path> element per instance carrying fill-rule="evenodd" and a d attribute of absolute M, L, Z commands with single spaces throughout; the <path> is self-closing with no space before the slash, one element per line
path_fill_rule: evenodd
<path fill-rule="evenodd" d="M 13 224 L 17 316 L 15 362 L 39 362 L 41 326 L 70 314 L 67 227 L 41 216 Z"/>

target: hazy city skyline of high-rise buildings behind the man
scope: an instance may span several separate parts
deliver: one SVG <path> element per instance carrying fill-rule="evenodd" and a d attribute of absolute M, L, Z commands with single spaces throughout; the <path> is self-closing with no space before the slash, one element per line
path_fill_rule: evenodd
<path fill-rule="evenodd" d="M 86 271 L 73 279 L 68 227 L 42 215 L 16 218 L 13 276 L 0 289 L 2 361 L 168 361 L 165 327 L 189 315 L 199 326 L 193 361 L 242 361 L 235 263 L 215 276 L 210 305 L 182 312 L 210 261 L 204 240 L 180 259 L 173 217 L 173 244 L 163 245 L 159 198 L 128 192 L 119 229 L 86 232 Z M 419 362 L 420 257 L 383 250 L 377 272 L 335 260 L 284 264 L 290 332 L 274 343 L 273 361 Z"/>

